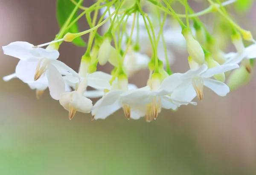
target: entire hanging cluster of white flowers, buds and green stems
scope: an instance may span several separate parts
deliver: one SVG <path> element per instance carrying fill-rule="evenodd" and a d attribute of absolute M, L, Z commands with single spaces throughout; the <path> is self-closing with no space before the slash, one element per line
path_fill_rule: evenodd
<path fill-rule="evenodd" d="M 105 119 L 122 108 L 128 119 L 145 117 L 146 121 L 151 121 L 162 109 L 175 111 L 182 105 L 197 105 L 192 100 L 195 97 L 203 100 L 204 86 L 223 97 L 230 89 L 237 89 L 250 80 L 256 44 L 244 47 L 243 39 L 254 42 L 252 35 L 227 16 L 224 6 L 235 0 L 222 4 L 208 0 L 209 7 L 198 13 L 186 0 L 179 1 L 186 14 L 175 13 L 175 5 L 167 0 L 161 3 L 155 0 L 98 0 L 90 7 L 81 6 L 82 1 L 71 1 L 74 9 L 52 42 L 34 46 L 17 41 L 3 46 L 4 54 L 20 59 L 15 73 L 3 80 L 19 78 L 36 90 L 38 99 L 49 88 L 51 97 L 69 111 L 70 120 L 76 112 L 91 113 L 93 119 Z M 71 33 L 68 29 L 79 19 L 72 21 L 73 12 L 79 8 L 84 10 L 82 15 L 86 14 L 90 29 Z M 90 17 L 92 11 L 93 19 Z M 219 44 L 221 41 L 208 32 L 198 18 L 212 11 L 226 19 L 237 52 L 225 54 L 221 51 L 224 49 Z M 98 12 L 101 18 L 96 24 Z M 97 29 L 102 25 L 103 34 L 100 34 Z M 58 49 L 63 41 L 79 45 L 75 39 L 87 33 L 90 33 L 87 49 L 77 73 L 58 60 Z M 227 35 L 227 30 L 222 34 Z M 47 47 L 43 49 L 43 46 Z M 174 51 L 186 50 L 190 69 L 185 73 L 172 72 Z M 106 63 L 113 66 L 111 74 L 97 71 L 98 64 Z M 149 76 L 145 87 L 138 88 L 128 82 L 136 72 L 147 68 Z M 233 72 L 228 74 L 231 70 Z M 87 86 L 95 90 L 87 90 Z M 100 99 L 93 105 L 91 98 Z"/>

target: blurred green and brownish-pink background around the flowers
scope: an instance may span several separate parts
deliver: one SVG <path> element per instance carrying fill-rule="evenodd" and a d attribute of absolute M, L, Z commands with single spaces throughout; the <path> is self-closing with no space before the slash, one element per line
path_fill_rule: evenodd
<path fill-rule="evenodd" d="M 0 46 L 52 40 L 59 30 L 55 7 L 55 0 L 0 0 Z M 240 14 L 250 30 L 253 9 Z M 81 30 L 88 28 L 83 21 Z M 63 43 L 60 60 L 78 70 L 84 51 Z M 0 77 L 17 62 L 1 50 Z M 179 55 L 172 67 L 184 72 L 184 65 L 186 55 Z M 140 72 L 130 82 L 141 87 L 147 77 Z M 224 98 L 204 93 L 198 106 L 163 110 L 151 123 L 127 120 L 121 110 L 106 120 L 77 113 L 70 121 L 47 92 L 37 100 L 20 80 L 0 80 L 0 175 L 256 175 L 255 78 Z"/>

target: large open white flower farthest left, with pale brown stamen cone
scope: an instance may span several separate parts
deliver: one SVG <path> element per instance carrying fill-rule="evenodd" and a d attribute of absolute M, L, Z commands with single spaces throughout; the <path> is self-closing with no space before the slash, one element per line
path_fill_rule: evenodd
<path fill-rule="evenodd" d="M 27 42 L 13 42 L 3 46 L 6 55 L 20 59 L 16 66 L 16 76 L 24 83 L 32 83 L 46 75 L 50 95 L 58 100 L 62 92 L 65 92 L 65 83 L 61 72 L 76 74 L 73 69 L 58 61 L 59 52 L 42 48 L 33 49 L 34 45 Z"/>

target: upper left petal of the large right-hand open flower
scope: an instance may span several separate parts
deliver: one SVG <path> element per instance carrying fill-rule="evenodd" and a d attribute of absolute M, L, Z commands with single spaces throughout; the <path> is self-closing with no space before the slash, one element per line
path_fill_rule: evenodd
<path fill-rule="evenodd" d="M 180 77 L 182 75 L 183 74 L 180 73 L 170 75 L 163 80 L 158 90 L 164 89 L 166 91 L 172 92 L 178 85 L 180 85 L 180 83 L 182 83 L 182 81 L 180 80 Z"/>

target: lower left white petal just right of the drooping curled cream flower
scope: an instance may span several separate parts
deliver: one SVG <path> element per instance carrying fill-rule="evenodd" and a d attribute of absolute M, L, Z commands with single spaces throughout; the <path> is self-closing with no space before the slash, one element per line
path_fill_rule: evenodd
<path fill-rule="evenodd" d="M 101 99 L 95 103 L 92 109 L 92 115 L 94 115 L 94 119 L 105 119 L 109 115 L 116 112 L 118 109 L 121 108 L 121 105 L 118 100 L 112 103 L 109 106 L 100 106 Z"/>

